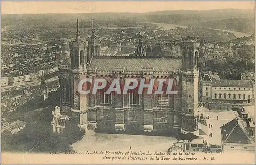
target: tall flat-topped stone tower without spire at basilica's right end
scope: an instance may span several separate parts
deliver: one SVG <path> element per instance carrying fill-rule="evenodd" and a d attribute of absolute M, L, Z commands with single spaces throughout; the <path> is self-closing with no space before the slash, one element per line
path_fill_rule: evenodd
<path fill-rule="evenodd" d="M 197 38 L 182 39 L 182 127 L 181 133 L 199 134 L 198 129 L 198 58 L 199 46 Z"/>

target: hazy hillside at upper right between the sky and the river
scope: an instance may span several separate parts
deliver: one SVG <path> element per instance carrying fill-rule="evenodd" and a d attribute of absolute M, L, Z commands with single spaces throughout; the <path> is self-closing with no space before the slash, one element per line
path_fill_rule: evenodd
<path fill-rule="evenodd" d="M 185 26 L 209 27 L 254 33 L 254 10 L 222 9 L 209 11 L 159 11 L 147 13 L 145 19 L 150 22 L 172 23 Z"/>

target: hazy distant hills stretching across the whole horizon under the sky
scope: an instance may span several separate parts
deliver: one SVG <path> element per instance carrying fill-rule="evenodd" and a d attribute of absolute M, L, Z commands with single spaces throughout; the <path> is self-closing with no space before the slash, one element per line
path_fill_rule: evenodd
<path fill-rule="evenodd" d="M 84 13 L 84 14 L 14 14 L 2 15 L 4 26 L 74 26 L 78 18 L 84 26 L 91 26 L 92 17 L 100 22 L 108 21 L 141 21 L 171 23 L 186 26 L 209 26 L 210 28 L 234 29 L 237 31 L 254 32 L 254 10 L 221 9 L 221 10 L 175 10 L 149 13 Z M 120 23 L 118 23 L 120 24 Z M 99 25 L 99 24 L 98 24 Z"/>

